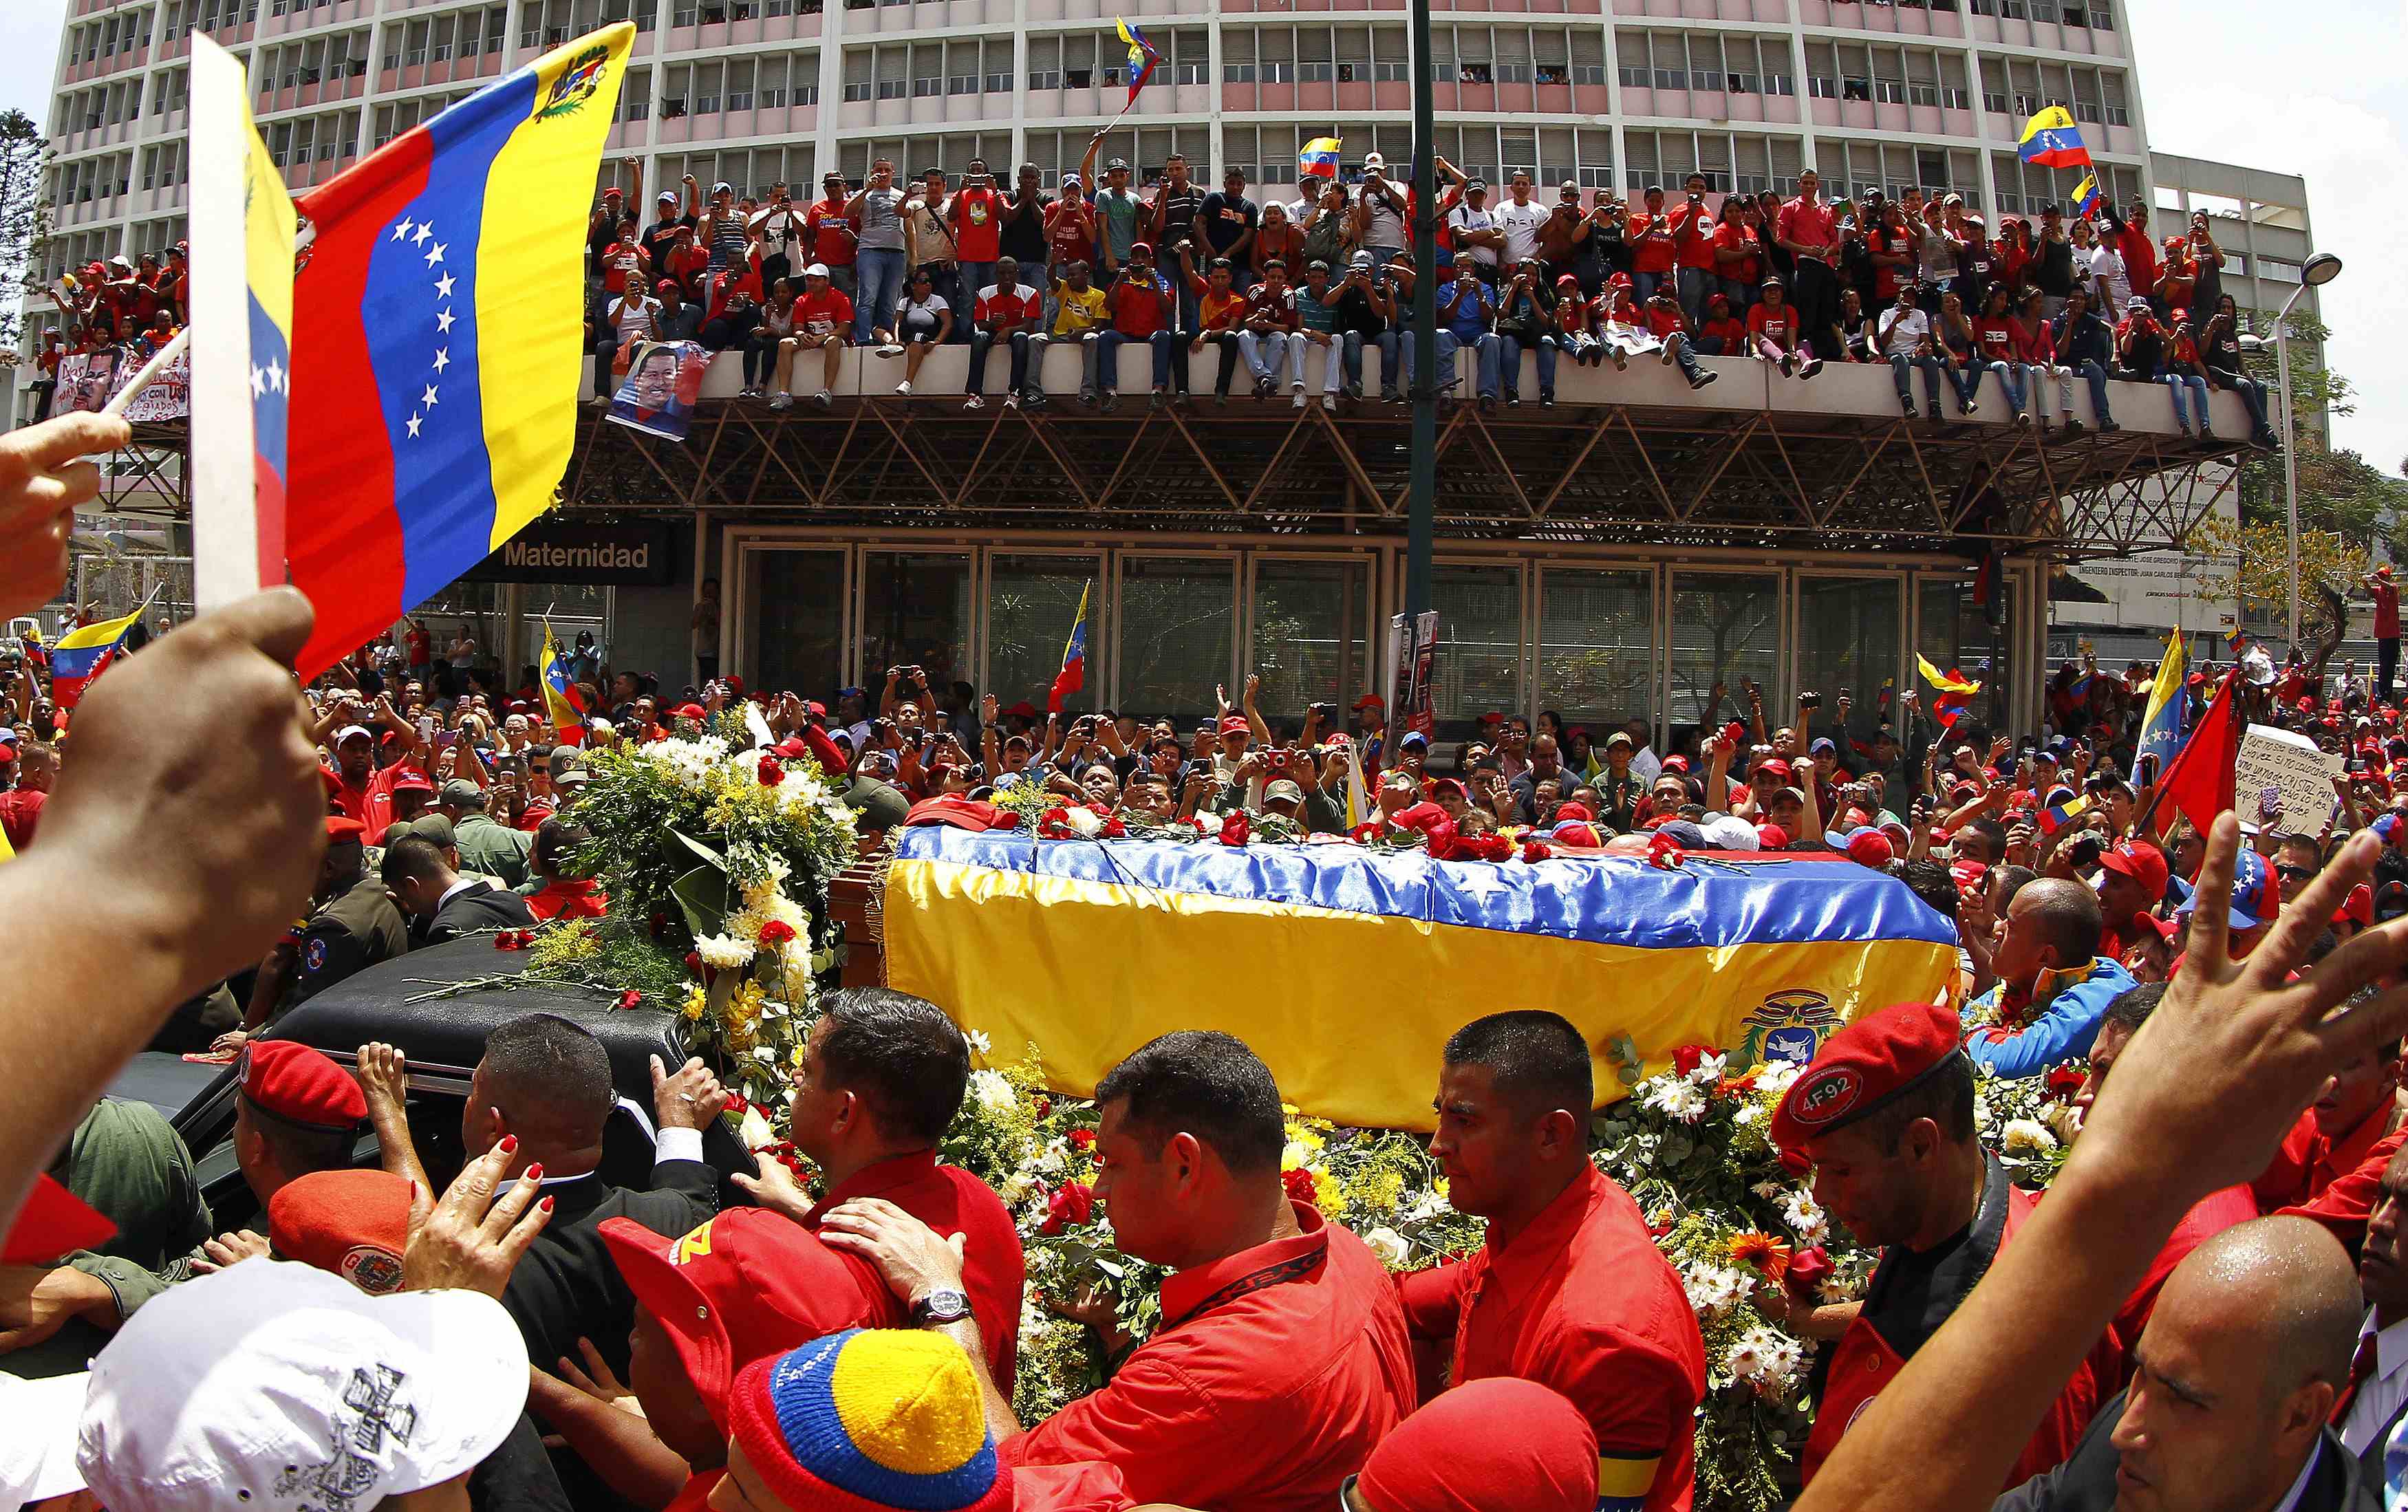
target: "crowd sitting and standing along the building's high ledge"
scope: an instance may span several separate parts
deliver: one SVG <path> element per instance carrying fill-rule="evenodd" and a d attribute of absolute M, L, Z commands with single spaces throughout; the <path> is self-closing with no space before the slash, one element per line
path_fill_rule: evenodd
<path fill-rule="evenodd" d="M 927 354 L 954 342 L 970 347 L 970 409 L 987 402 L 995 347 L 1009 356 L 1002 402 L 1040 407 L 1031 373 L 1050 344 L 1072 344 L 1079 402 L 1112 409 L 1120 347 L 1137 342 L 1151 352 L 1151 404 L 1192 402 L 1190 359 L 1211 349 L 1216 402 L 1243 366 L 1252 397 L 1286 390 L 1303 409 L 1310 378 L 1336 409 L 1365 397 L 1370 349 L 1380 400 L 1401 402 L 1423 272 L 1413 190 L 1377 152 L 1358 181 L 1308 178 L 1288 200 L 1276 185 L 1250 193 L 1235 166 L 1206 188 L 1178 154 L 1146 181 L 1117 156 L 1098 176 L 1100 142 L 1055 193 L 1033 164 L 1002 185 L 985 159 L 913 178 L 879 159 L 857 185 L 826 173 L 809 202 L 783 183 L 766 200 L 730 183 L 706 197 L 686 176 L 681 193 L 655 195 L 650 222 L 641 164 L 626 159 L 633 188 L 604 190 L 588 231 L 597 376 L 638 339 L 694 339 L 739 352 L 742 397 L 785 409 L 807 354 L 821 385 L 802 392 L 831 404 L 843 349 L 901 359 L 893 392 L 908 397 Z M 1563 361 L 1676 364 L 1705 388 L 1717 371 L 1698 356 L 1755 356 L 1801 383 L 1823 364 L 1885 364 L 1905 414 L 1917 417 L 1919 383 L 1919 414 L 1943 424 L 1972 417 L 1994 378 L 2008 424 L 2047 431 L 2054 392 L 2066 436 L 2085 429 L 2076 380 L 2102 431 L 2119 429 L 2119 380 L 2165 385 L 2182 431 L 2201 438 L 2213 438 L 2208 395 L 2232 390 L 2249 443 L 2276 445 L 2206 214 L 2160 243 L 2141 200 L 2076 219 L 2044 205 L 1994 231 L 1955 193 L 1823 200 L 1813 169 L 1794 197 L 1722 195 L 1690 173 L 1630 202 L 1611 188 L 1584 202 L 1570 181 L 1548 197 L 1522 169 L 1500 188 L 1445 159 L 1435 169 L 1445 190 L 1426 277 L 1440 383 L 1452 390 L 1457 354 L 1471 354 L 1483 409 L 1524 400 L 1524 352 L 1539 404 L 1556 402 Z M 602 402 L 612 385 L 595 388 Z"/>

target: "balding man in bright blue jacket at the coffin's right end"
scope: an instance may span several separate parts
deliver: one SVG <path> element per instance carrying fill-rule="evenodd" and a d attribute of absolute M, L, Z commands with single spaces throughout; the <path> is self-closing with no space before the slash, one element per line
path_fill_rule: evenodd
<path fill-rule="evenodd" d="M 1965 1055 L 1999 1076 L 2042 1076 L 2088 1052 L 2107 1004 L 2133 985 L 2121 961 L 2100 953 L 2102 932 L 2088 886 L 2066 876 L 2023 884 L 1991 956 L 1999 985 L 1975 999 L 1999 1021 L 1965 1035 Z"/>

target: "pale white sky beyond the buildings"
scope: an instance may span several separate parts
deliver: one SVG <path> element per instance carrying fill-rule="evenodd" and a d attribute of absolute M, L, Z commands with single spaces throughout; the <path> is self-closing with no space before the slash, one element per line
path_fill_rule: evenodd
<path fill-rule="evenodd" d="M 2360 388 L 2333 426 L 2384 472 L 2408 457 L 2408 383 L 2382 342 L 2408 330 L 2408 279 L 2389 267 L 2391 202 L 2408 185 L 2408 0 L 2117 0 L 2133 39 L 2158 152 L 2307 178 L 2316 243 L 2348 265 L 2324 289 L 2326 359 Z M 0 108 L 43 120 L 67 0 L 0 0 Z M 2382 60 L 2391 65 L 2353 65 Z"/>

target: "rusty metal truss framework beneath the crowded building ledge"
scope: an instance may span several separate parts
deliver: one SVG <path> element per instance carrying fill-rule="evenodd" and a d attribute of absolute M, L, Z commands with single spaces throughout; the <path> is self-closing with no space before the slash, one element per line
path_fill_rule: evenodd
<path fill-rule="evenodd" d="M 1317 400 L 1317 395 L 1315 395 Z M 561 506 L 879 530 L 1401 534 L 1409 412 L 1238 397 L 1115 414 L 963 412 L 951 397 L 787 412 L 703 400 L 684 443 L 578 414 Z M 2177 549 L 2239 477 L 2237 443 L 2126 429 L 1804 409 L 1452 404 L 1438 525 L 1457 539 L 1765 551 L 1934 551 L 2059 561 Z M 183 426 L 140 426 L 108 513 L 188 513 Z"/>

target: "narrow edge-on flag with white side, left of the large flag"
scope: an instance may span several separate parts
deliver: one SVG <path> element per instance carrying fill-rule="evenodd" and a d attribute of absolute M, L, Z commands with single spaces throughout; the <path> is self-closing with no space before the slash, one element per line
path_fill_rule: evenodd
<path fill-rule="evenodd" d="M 193 600 L 284 583 L 294 202 L 243 65 L 193 34 Z"/>

